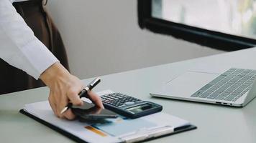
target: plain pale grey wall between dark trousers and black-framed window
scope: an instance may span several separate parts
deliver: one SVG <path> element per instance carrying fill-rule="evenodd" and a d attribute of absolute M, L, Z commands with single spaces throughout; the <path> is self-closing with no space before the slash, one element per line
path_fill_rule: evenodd
<path fill-rule="evenodd" d="M 218 54 L 137 24 L 137 0 L 50 0 L 73 74 L 85 79 Z"/>

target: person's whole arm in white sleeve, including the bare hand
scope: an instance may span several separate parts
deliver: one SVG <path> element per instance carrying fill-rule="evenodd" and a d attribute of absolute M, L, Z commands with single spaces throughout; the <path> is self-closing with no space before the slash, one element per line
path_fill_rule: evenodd
<path fill-rule="evenodd" d="M 78 93 L 83 88 L 81 80 L 71 75 L 58 59 L 38 40 L 9 0 L 0 0 L 0 58 L 35 79 L 42 79 L 50 88 L 49 102 L 58 117 L 73 119 L 70 110 L 60 114 L 68 104 L 81 104 Z M 103 107 L 100 97 L 89 96 Z"/>

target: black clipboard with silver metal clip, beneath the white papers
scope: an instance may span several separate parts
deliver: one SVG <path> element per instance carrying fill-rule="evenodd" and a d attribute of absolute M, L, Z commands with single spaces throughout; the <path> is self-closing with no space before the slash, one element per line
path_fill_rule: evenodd
<path fill-rule="evenodd" d="M 45 102 L 45 103 L 47 103 L 47 102 Z M 42 104 L 42 103 L 39 102 L 39 103 L 34 103 L 34 104 Z M 69 137 L 70 139 L 73 139 L 73 141 L 91 142 L 87 139 L 82 139 L 78 135 L 72 134 L 65 129 L 62 129 L 61 127 L 58 127 L 57 125 L 52 124 L 45 119 L 37 117 L 37 115 L 33 114 L 31 111 L 29 112 L 26 109 L 21 109 L 19 112 L 26 115 L 27 117 L 35 119 L 37 122 L 40 122 L 41 124 L 44 124 L 47 127 L 50 127 L 51 129 L 55 130 L 56 132 L 59 132 L 60 134 L 63 134 L 64 136 Z M 154 115 L 152 115 L 152 116 L 154 116 Z M 180 126 L 180 127 L 163 126 L 163 127 L 157 127 L 157 128 L 148 129 L 148 130 L 144 129 L 144 130 L 140 130 L 138 132 L 132 133 L 132 134 L 126 134 L 122 137 L 117 137 L 116 140 L 113 140 L 113 142 L 142 142 L 142 141 L 144 142 L 144 141 L 148 141 L 148 140 L 152 140 L 152 139 L 157 139 L 160 137 L 166 137 L 171 134 L 178 134 L 180 132 L 186 132 L 186 131 L 192 130 L 192 129 L 196 129 L 196 126 L 194 126 L 192 124 L 186 124 L 186 125 Z"/>

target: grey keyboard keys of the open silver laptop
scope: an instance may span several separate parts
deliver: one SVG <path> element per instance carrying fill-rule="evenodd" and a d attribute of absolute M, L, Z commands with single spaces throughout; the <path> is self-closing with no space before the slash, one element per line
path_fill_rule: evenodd
<path fill-rule="evenodd" d="M 216 77 L 191 97 L 235 102 L 252 88 L 256 70 L 232 68 Z"/>

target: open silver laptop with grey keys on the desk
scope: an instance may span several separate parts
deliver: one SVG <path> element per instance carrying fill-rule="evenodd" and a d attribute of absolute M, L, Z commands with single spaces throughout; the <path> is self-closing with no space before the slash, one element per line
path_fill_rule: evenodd
<path fill-rule="evenodd" d="M 152 91 L 152 97 L 244 107 L 256 97 L 256 70 L 231 68 L 221 74 L 186 71 Z"/>

